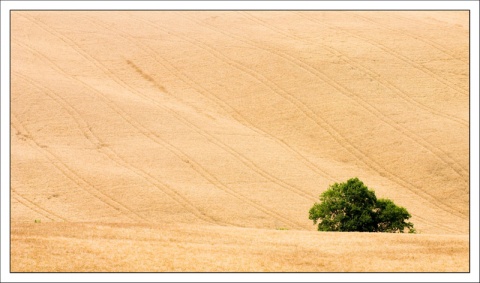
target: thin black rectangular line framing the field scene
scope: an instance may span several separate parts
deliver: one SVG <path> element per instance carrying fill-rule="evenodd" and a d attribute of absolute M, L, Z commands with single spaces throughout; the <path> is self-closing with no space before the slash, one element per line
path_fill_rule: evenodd
<path fill-rule="evenodd" d="M 89 0 L 88 0 L 89 1 Z M 93 0 L 92 0 L 93 1 Z M 444 0 L 444 1 L 447 1 L 447 0 Z M 468 11 L 468 48 L 469 48 L 469 74 L 468 74 L 468 80 L 469 80 L 469 95 L 468 95 L 468 111 L 469 111 L 469 131 L 468 131 L 468 135 L 469 135 L 469 165 L 471 165 L 471 151 L 470 151 L 470 148 L 471 148 L 471 114 L 472 114 L 472 111 L 471 111 L 471 9 L 461 9 L 461 10 L 458 10 L 458 9 L 448 9 L 448 10 L 445 10 L 445 9 L 434 9 L 434 10 L 430 10 L 430 9 L 427 9 L 427 10 L 424 10 L 424 9 L 408 9 L 408 10 L 352 10 L 352 9 L 349 9 L 349 10 L 110 10 L 110 9 L 107 9 L 107 10 L 101 10 L 101 9 L 95 9 L 95 10 L 42 10 L 42 9 L 33 9 L 33 10 L 18 10 L 18 9 L 11 9 L 9 10 L 9 81 L 10 81 L 10 84 L 9 84 L 9 155 L 10 155 L 10 159 L 9 159 L 9 181 L 10 181 L 10 190 L 9 190 L 9 204 L 10 204 L 10 207 L 9 207 L 9 226 L 10 226 L 10 235 L 9 235 L 9 255 L 10 255 L 10 273 L 11 274 L 25 274 L 25 273 L 29 273 L 29 274 L 238 274 L 238 273 L 242 273 L 242 274 L 267 274 L 267 273 L 271 273 L 271 274 L 338 274 L 338 273 L 346 273 L 346 274 L 438 274 L 438 273 L 441 273 L 441 274 L 470 274 L 471 273 L 471 257 L 472 257 L 472 254 L 471 254 L 471 227 L 472 227 L 472 224 L 471 224 L 471 193 L 470 193 L 470 189 L 471 189 L 471 166 L 469 166 L 469 238 L 468 238 L 468 245 L 469 245 L 469 267 L 468 267 L 468 271 L 462 271 L 462 272 L 440 272 L 440 271 L 434 271 L 434 272 L 419 272 L 419 271 L 406 271 L 406 272 L 387 272 L 387 271 L 378 271 L 378 272 L 235 272 L 235 271 L 226 271 L 226 272 L 190 272 L 190 271 L 187 271 L 187 272 L 128 272 L 128 271 L 125 271 L 125 272 L 112 272 L 112 271 L 95 271 L 95 272 L 88 272 L 88 271 L 85 271 L 85 272 L 46 272 L 46 271 L 42 271 L 42 272 L 12 272 L 12 257 L 11 257 L 11 243 L 12 243 L 12 233 L 11 233 L 11 230 L 12 230 L 12 217 L 11 217 L 11 213 L 12 213 L 12 197 L 11 197 L 11 175 L 12 175 L 12 158 L 11 158 L 11 155 L 12 155 L 12 147 L 11 147 L 11 144 L 12 144 L 12 135 L 11 135 L 11 107 L 12 107 L 12 76 L 11 76 L 11 67 L 12 67 L 12 12 L 22 12 L 22 11 L 52 11 L 52 12 L 57 12 L 57 11 L 72 11 L 72 12 L 76 12 L 76 11 L 264 11 L 264 12 L 268 12 L 268 11 L 285 11 L 285 12 L 288 12 L 288 11 L 313 11 L 313 12 L 316 12 L 316 11 L 326 11 L 326 12 L 330 12 L 330 11 L 370 11 L 370 12 L 378 12 L 378 11 L 438 11 L 438 12 L 441 12 L 441 11 Z M 0 22 L 0 25 L 1 25 L 1 22 Z M 1 70 L 0 70 L 1 72 Z M 1 78 L 1 77 L 0 77 Z M 1 110 L 0 110 L 1 111 Z M 0 211 L 1 213 L 1 211 Z M 0 229 L 1 229 L 1 226 L 0 226 Z M 1 259 L 0 259 L 1 260 Z M 0 265 L 1 267 L 1 265 Z"/>

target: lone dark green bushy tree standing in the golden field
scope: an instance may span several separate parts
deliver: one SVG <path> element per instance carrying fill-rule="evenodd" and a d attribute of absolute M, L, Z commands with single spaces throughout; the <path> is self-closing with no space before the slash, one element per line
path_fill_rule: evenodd
<path fill-rule="evenodd" d="M 318 231 L 415 233 L 411 215 L 389 199 L 377 199 L 358 178 L 335 183 L 309 211 Z"/>

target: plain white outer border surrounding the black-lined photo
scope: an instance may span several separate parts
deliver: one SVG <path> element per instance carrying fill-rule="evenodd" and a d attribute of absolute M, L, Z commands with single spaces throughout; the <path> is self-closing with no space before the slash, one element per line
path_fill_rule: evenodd
<path fill-rule="evenodd" d="M 478 282 L 478 1 L 0 1 L 2 282 Z M 470 273 L 10 273 L 11 10 L 470 10 Z"/>

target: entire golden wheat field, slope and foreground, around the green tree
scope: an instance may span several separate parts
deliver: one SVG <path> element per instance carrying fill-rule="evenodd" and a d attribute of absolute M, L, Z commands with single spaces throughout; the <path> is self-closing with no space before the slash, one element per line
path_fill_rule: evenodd
<path fill-rule="evenodd" d="M 11 271 L 469 272 L 469 122 L 468 11 L 13 11 Z"/>

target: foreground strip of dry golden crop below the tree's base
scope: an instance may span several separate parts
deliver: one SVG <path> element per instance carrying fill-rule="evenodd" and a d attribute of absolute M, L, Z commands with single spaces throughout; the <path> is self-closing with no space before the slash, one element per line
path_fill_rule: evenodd
<path fill-rule="evenodd" d="M 12 271 L 468 272 L 468 236 L 16 224 Z"/>

